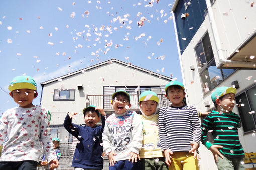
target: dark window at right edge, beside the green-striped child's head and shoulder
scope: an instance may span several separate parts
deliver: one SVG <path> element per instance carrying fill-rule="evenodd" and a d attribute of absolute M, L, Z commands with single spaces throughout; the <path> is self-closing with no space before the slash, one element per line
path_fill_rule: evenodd
<path fill-rule="evenodd" d="M 238 105 L 239 114 L 241 117 L 242 127 L 244 132 L 250 132 L 256 129 L 256 85 L 246 89 L 241 94 L 235 97 Z"/>

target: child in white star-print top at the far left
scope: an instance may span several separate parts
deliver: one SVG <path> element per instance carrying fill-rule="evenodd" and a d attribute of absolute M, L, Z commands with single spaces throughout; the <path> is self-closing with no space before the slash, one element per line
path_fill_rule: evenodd
<path fill-rule="evenodd" d="M 41 143 L 50 169 L 59 162 L 53 151 L 50 133 L 50 112 L 43 106 L 34 106 L 37 85 L 30 76 L 17 76 L 11 82 L 10 96 L 19 105 L 7 110 L 0 119 L 0 144 L 4 144 L 0 169 L 36 169 Z"/>

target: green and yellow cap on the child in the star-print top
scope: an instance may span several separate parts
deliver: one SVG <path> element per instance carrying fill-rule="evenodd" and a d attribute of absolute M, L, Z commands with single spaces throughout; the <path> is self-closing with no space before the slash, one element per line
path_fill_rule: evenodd
<path fill-rule="evenodd" d="M 17 89 L 37 90 L 37 83 L 31 76 L 27 76 L 27 75 L 17 76 L 13 79 L 8 89 L 11 92 Z"/>

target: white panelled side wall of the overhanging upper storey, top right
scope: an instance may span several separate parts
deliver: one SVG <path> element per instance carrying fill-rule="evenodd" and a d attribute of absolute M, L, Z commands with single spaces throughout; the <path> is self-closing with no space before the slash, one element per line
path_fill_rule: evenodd
<path fill-rule="evenodd" d="M 256 6 L 254 4 L 254 7 L 251 7 L 252 2 L 252 0 L 216 0 L 212 6 L 225 59 L 256 30 Z M 218 57 L 215 59 L 218 65 Z"/>

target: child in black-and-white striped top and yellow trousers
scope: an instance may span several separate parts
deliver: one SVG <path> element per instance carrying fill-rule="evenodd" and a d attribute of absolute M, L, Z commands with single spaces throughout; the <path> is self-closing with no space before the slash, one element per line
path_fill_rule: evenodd
<path fill-rule="evenodd" d="M 162 107 L 159 111 L 159 137 L 165 162 L 169 169 L 199 169 L 197 148 L 201 127 L 198 113 L 195 107 L 182 102 L 185 91 L 179 81 L 169 82 L 165 92 L 172 103 L 170 107 Z"/>

